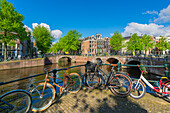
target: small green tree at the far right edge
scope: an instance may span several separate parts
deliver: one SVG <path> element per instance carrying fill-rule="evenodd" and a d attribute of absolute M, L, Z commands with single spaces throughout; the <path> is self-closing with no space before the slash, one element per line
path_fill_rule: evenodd
<path fill-rule="evenodd" d="M 161 51 L 169 49 L 169 42 L 167 42 L 166 39 L 166 37 L 161 36 L 159 42 L 155 45 L 155 47 L 157 47 Z"/>

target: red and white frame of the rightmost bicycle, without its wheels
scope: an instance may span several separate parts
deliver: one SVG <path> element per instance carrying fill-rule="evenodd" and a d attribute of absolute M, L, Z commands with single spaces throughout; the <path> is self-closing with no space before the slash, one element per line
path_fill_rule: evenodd
<path fill-rule="evenodd" d="M 162 93 L 162 94 L 170 94 L 170 93 L 168 93 L 168 92 L 163 92 L 162 91 L 162 89 L 161 89 L 161 86 L 162 85 L 164 85 L 164 86 L 166 86 L 166 87 L 168 87 L 165 83 L 163 83 L 162 82 L 162 80 L 160 79 L 160 81 L 159 81 L 159 86 L 158 87 L 155 87 L 155 86 L 153 86 L 152 84 L 150 84 L 146 79 L 145 79 L 145 77 L 142 75 L 143 74 L 143 72 L 141 73 L 141 75 L 140 75 L 140 78 L 138 79 L 138 82 L 137 82 L 137 84 L 136 84 L 136 86 L 135 86 L 135 88 L 138 86 L 138 84 L 139 84 L 139 81 L 143 81 L 145 84 L 147 84 L 151 89 L 153 89 L 155 92 L 158 92 L 158 93 Z M 146 86 L 145 86 L 146 87 Z M 169 89 L 170 89 L 170 87 L 168 87 Z"/>

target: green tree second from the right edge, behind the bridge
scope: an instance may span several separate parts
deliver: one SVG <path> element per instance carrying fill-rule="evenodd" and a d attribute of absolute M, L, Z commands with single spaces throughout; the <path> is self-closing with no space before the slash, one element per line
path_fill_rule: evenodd
<path fill-rule="evenodd" d="M 153 48 L 154 42 L 151 39 L 151 37 L 147 34 L 143 35 L 141 41 L 142 41 L 143 49 L 145 50 L 145 55 L 146 55 L 146 52 Z"/>

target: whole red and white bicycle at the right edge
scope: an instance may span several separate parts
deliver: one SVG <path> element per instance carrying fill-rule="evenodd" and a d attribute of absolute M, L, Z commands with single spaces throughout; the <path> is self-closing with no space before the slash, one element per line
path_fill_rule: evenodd
<path fill-rule="evenodd" d="M 135 99 L 142 98 L 146 93 L 146 85 L 149 86 L 153 91 L 156 92 L 156 94 L 160 97 L 166 96 L 170 100 L 170 79 L 167 77 L 161 77 L 161 79 L 158 82 L 158 86 L 153 86 L 150 84 L 145 77 L 143 76 L 143 73 L 148 73 L 146 69 L 141 69 L 139 65 L 137 65 L 141 71 L 140 78 L 138 80 L 132 81 L 132 92 L 130 93 L 130 96 Z M 166 80 L 163 82 L 163 80 Z M 145 85 L 146 84 L 146 85 Z"/>

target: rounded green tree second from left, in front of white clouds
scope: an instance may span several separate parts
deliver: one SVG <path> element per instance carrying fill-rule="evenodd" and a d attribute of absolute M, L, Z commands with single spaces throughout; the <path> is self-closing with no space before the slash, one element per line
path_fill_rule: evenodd
<path fill-rule="evenodd" d="M 46 53 L 51 48 L 53 37 L 51 36 L 50 31 L 44 26 L 36 26 L 33 31 L 33 37 L 37 44 L 37 48 L 41 51 L 41 54 Z"/>

